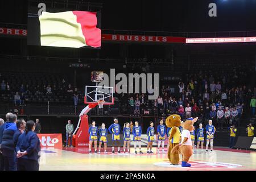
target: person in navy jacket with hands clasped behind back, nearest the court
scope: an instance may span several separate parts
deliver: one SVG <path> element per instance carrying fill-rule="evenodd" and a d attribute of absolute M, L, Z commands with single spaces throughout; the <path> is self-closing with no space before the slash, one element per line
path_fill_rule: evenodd
<path fill-rule="evenodd" d="M 18 171 L 39 171 L 40 140 L 34 133 L 35 122 L 28 121 L 26 129 L 18 138 L 16 153 L 18 158 Z"/>

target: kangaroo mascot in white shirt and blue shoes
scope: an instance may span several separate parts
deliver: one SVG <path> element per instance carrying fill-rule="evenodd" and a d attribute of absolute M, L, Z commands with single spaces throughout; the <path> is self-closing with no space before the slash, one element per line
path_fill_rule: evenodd
<path fill-rule="evenodd" d="M 198 118 L 188 118 L 187 121 L 184 122 L 183 131 L 181 134 L 181 143 L 172 148 L 171 155 L 174 155 L 177 152 L 182 155 L 181 167 L 191 167 L 191 164 L 188 163 L 189 158 L 193 154 L 190 132 L 195 130 L 193 124 L 197 121 L 197 119 Z"/>

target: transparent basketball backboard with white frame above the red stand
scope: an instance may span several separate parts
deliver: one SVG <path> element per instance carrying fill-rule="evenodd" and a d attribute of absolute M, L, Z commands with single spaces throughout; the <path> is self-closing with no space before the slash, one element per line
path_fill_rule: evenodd
<path fill-rule="evenodd" d="M 104 100 L 104 105 L 113 105 L 113 87 L 111 86 L 85 86 L 85 104 L 98 103 L 98 100 Z"/>

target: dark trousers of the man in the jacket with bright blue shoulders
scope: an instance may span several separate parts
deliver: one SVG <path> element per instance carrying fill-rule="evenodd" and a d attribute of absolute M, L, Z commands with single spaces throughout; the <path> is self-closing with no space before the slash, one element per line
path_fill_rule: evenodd
<path fill-rule="evenodd" d="M 16 171 L 16 153 L 14 150 L 2 149 L 3 158 L 5 160 L 5 171 Z"/>

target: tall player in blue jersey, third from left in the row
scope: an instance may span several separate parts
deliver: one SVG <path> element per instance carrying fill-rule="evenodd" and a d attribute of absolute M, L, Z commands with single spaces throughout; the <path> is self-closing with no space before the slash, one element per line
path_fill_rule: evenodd
<path fill-rule="evenodd" d="M 112 153 L 114 154 L 115 142 L 117 142 L 118 153 L 120 153 L 120 130 L 121 126 L 118 124 L 118 119 L 114 119 L 114 123 L 109 127 L 109 133 L 112 134 Z"/>

